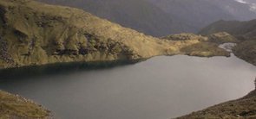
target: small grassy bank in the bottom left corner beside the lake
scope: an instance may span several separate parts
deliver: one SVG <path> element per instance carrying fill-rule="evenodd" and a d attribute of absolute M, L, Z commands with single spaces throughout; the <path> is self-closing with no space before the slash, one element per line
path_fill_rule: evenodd
<path fill-rule="evenodd" d="M 0 91 L 0 118 L 49 118 L 49 111 L 23 97 Z"/>

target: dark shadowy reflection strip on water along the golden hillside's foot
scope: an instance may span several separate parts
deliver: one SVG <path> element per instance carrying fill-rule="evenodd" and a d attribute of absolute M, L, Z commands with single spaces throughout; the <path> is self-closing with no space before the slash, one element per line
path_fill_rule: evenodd
<path fill-rule="evenodd" d="M 11 80 L 16 78 L 33 78 L 41 77 L 45 75 L 56 75 L 63 73 L 82 72 L 90 70 L 110 69 L 117 66 L 133 65 L 141 60 L 116 60 L 107 62 L 91 62 L 91 63 L 62 63 L 62 64 L 50 64 L 45 66 L 24 66 L 21 68 L 11 68 L 0 70 L 0 81 Z"/>

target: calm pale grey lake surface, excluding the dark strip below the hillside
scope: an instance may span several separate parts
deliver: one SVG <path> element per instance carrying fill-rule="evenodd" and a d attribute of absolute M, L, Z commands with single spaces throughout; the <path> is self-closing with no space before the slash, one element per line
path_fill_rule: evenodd
<path fill-rule="evenodd" d="M 135 65 L 62 73 L 36 70 L 40 75 L 0 77 L 0 89 L 42 103 L 60 119 L 182 116 L 245 96 L 256 76 L 255 66 L 233 55 L 160 56 Z"/>

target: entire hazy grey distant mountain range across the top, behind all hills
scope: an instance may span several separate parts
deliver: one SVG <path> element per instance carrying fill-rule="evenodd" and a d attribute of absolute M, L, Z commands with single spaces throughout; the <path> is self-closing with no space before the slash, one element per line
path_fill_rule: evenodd
<path fill-rule="evenodd" d="M 246 21 L 256 18 L 254 0 L 38 0 L 85 9 L 95 16 L 163 36 L 197 33 L 218 20 Z"/>

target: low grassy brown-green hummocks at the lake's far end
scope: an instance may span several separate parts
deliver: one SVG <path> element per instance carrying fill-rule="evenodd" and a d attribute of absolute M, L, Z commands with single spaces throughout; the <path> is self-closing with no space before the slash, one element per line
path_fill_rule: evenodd
<path fill-rule="evenodd" d="M 224 52 L 222 48 L 219 48 L 219 45 L 225 42 L 236 41 L 233 36 L 226 33 L 211 34 L 207 37 L 196 34 L 172 34 L 162 37 L 162 39 L 176 41 L 176 44 L 183 44 L 177 46 L 186 46 L 180 48 L 181 53 L 201 57 L 211 57 L 216 55 L 230 56 L 229 53 Z"/>

